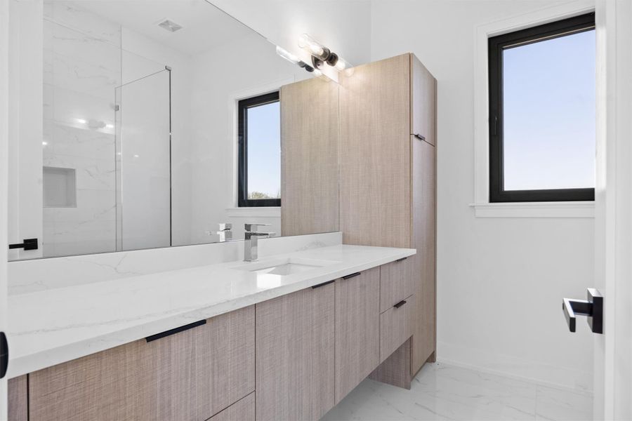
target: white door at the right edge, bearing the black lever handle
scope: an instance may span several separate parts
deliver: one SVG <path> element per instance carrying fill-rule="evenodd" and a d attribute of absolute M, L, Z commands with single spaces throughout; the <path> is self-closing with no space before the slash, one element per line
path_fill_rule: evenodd
<path fill-rule="evenodd" d="M 632 420 L 632 1 L 598 0 L 595 420 Z"/>

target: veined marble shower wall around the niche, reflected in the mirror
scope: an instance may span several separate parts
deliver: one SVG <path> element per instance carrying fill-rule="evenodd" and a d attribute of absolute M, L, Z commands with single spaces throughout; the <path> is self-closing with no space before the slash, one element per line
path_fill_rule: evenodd
<path fill-rule="evenodd" d="M 76 177 L 76 203 L 44 204 L 44 257 L 115 251 L 121 26 L 53 1 L 44 2 L 43 24 L 44 167 Z"/>

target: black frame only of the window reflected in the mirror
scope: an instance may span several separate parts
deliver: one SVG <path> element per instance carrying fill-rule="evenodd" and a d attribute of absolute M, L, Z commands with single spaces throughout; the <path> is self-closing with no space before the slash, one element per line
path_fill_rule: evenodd
<path fill-rule="evenodd" d="M 279 91 L 245 98 L 237 102 L 237 139 L 239 149 L 237 206 L 239 208 L 281 206 L 281 199 L 248 199 L 248 109 L 274 102 L 279 102 Z"/>

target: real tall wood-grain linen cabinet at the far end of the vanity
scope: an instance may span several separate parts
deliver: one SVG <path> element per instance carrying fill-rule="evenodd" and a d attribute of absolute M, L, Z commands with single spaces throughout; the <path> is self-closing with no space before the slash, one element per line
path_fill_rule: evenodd
<path fill-rule="evenodd" d="M 435 352 L 435 98 L 435 79 L 412 54 L 340 74 L 343 243 L 416 248 L 412 375 Z"/>

